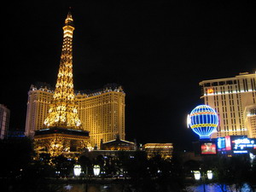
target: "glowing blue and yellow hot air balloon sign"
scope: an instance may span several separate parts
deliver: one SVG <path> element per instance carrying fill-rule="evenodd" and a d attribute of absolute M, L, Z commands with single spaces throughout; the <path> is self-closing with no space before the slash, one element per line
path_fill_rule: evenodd
<path fill-rule="evenodd" d="M 218 114 L 207 105 L 199 105 L 189 114 L 188 125 L 200 139 L 210 139 L 212 132 L 217 130 Z"/>

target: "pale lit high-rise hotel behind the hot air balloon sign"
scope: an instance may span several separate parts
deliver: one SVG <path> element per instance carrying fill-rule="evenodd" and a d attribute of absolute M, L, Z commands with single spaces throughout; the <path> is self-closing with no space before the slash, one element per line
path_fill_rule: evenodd
<path fill-rule="evenodd" d="M 256 137 L 256 74 L 201 81 L 201 98 L 218 113 L 219 125 L 212 138 L 233 135 Z"/>

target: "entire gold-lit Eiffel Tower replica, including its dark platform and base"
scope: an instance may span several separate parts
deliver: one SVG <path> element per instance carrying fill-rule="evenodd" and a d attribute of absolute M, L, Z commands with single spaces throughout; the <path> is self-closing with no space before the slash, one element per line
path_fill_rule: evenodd
<path fill-rule="evenodd" d="M 35 132 L 35 150 L 51 156 L 75 157 L 88 148 L 89 131 L 83 131 L 73 90 L 73 17 L 67 14 L 63 26 L 61 62 L 55 93 L 49 104 L 44 128 Z"/>

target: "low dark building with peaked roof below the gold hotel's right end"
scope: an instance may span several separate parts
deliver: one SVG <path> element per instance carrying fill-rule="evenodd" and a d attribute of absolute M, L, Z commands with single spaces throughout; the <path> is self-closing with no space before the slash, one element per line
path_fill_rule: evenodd
<path fill-rule="evenodd" d="M 135 151 L 136 148 L 136 143 L 122 140 L 119 137 L 106 143 L 103 143 L 103 141 L 101 143 L 101 150 Z"/>

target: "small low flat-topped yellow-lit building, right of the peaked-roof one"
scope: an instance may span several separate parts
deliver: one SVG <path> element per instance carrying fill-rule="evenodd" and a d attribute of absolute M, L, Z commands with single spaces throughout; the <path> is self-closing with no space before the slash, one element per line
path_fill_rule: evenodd
<path fill-rule="evenodd" d="M 160 155 L 165 160 L 172 159 L 173 145 L 172 143 L 146 143 L 143 145 L 148 159 L 155 155 Z"/>

